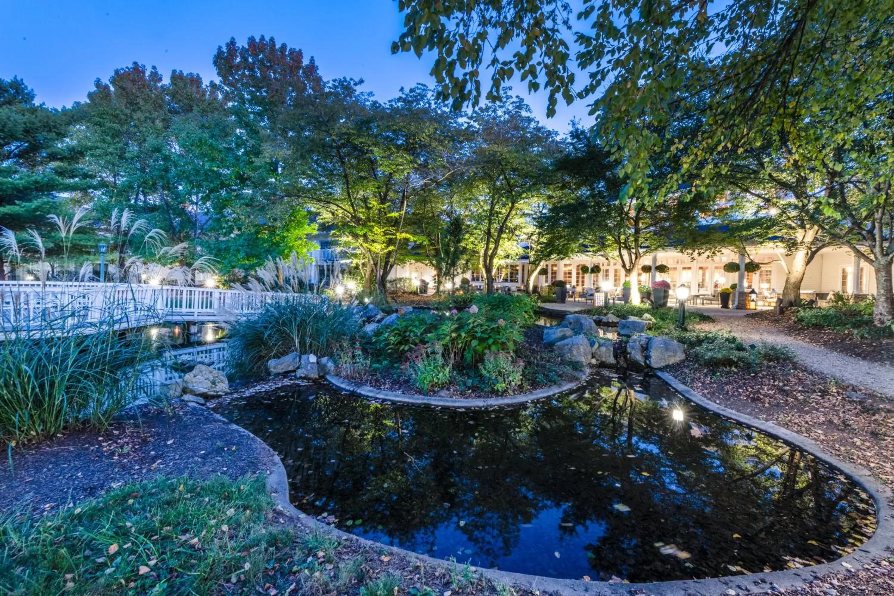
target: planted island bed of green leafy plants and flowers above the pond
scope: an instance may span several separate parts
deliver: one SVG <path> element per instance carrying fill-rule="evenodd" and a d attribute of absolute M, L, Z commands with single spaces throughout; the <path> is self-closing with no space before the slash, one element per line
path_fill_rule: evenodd
<path fill-rule="evenodd" d="M 523 393 L 578 376 L 544 348 L 534 299 L 478 295 L 466 308 L 449 306 L 367 325 L 338 348 L 335 374 L 375 389 L 457 398 Z"/>

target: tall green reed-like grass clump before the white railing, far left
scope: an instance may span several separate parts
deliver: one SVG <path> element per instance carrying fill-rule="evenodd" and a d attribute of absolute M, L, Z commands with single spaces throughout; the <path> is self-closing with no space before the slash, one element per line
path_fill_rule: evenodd
<path fill-rule="evenodd" d="M 153 350 L 146 334 L 120 332 L 137 326 L 122 311 L 111 306 L 96 323 L 56 317 L 38 331 L 29 322 L 3 326 L 0 439 L 39 441 L 78 424 L 104 429 L 131 404 L 140 389 L 136 372 Z M 148 311 L 130 316 L 154 320 Z"/>

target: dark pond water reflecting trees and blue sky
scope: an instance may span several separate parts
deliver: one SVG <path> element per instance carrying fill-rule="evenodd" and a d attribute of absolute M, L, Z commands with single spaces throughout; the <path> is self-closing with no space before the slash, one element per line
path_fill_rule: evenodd
<path fill-rule="evenodd" d="M 651 582 L 807 566 L 874 529 L 871 500 L 662 382 L 509 410 L 367 403 L 307 385 L 223 405 L 291 499 L 368 539 L 477 567 Z M 650 393 L 647 397 L 645 393 Z"/>

